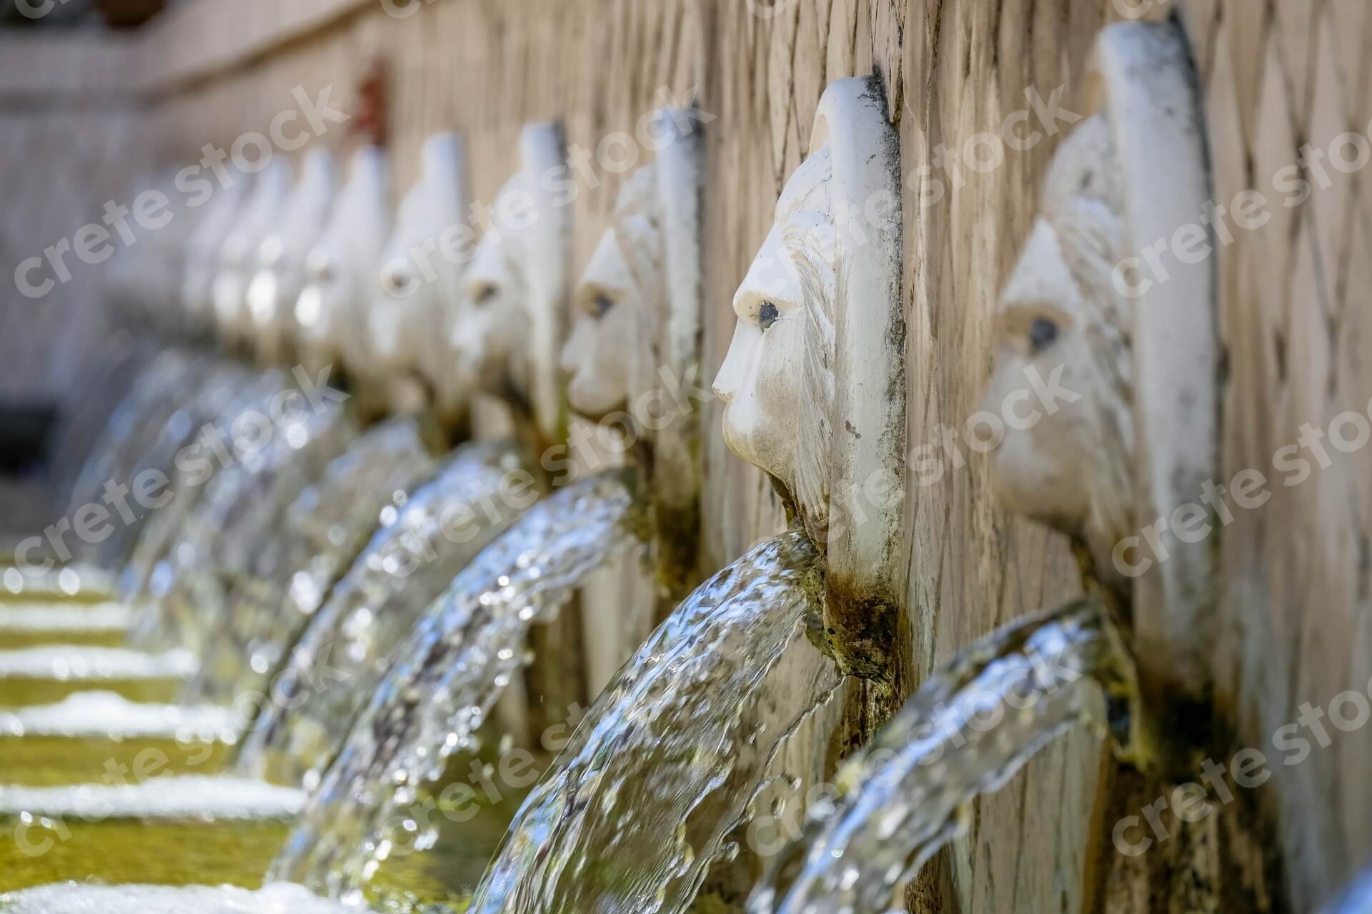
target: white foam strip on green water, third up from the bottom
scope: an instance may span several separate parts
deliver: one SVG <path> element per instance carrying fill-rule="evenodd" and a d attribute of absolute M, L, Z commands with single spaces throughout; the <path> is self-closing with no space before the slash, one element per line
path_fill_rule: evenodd
<path fill-rule="evenodd" d="M 235 717 L 226 707 L 141 704 L 115 692 L 77 692 L 56 704 L 0 711 L 0 737 L 161 737 L 232 744 L 239 732 Z"/>

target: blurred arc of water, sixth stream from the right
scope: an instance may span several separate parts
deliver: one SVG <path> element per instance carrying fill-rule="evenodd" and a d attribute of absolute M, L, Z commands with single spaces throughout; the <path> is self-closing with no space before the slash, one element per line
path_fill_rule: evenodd
<path fill-rule="evenodd" d="M 139 607 L 133 645 L 170 643 L 202 654 L 224 618 L 226 591 L 247 570 L 254 547 L 357 436 L 355 423 L 336 403 L 283 419 L 281 428 L 266 432 L 266 447 L 218 469 L 206 485 L 152 574 L 154 599 Z"/>

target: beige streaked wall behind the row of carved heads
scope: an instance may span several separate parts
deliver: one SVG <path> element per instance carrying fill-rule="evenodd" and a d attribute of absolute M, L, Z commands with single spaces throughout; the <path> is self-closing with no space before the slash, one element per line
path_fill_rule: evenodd
<path fill-rule="evenodd" d="M 73 4 L 77 0 L 70 0 Z M 707 112 L 708 315 L 712 377 L 733 329 L 731 293 L 771 225 L 777 195 L 807 151 L 825 85 L 875 70 L 908 174 L 945 145 L 997 130 L 1026 88 L 1076 99 L 1096 32 L 1136 1 L 1113 0 L 189 0 L 137 32 L 89 18 L 0 37 L 0 395 L 80 399 L 81 366 L 110 338 L 99 270 L 33 301 L 8 277 L 18 260 L 132 197 L 140 174 L 191 162 L 265 130 L 332 85 L 351 110 L 369 62 L 391 73 L 398 189 L 435 130 L 466 136 L 477 200 L 493 200 L 524 122 L 561 119 L 587 148 L 694 90 Z M 1305 143 L 1365 130 L 1365 0 L 1170 0 L 1194 44 L 1207 101 L 1217 199 L 1262 186 Z M 397 14 L 397 11 L 399 11 Z M 18 26 L 15 26 L 18 27 Z M 668 96 L 663 96 L 665 90 Z M 1358 126 L 1361 125 L 1361 126 Z M 1056 134 L 1056 136 L 1061 136 Z M 975 411 L 991 367 L 996 295 L 1032 222 L 1056 136 L 1004 166 L 906 195 L 911 443 Z M 617 175 L 576 203 L 578 270 Z M 1302 422 L 1365 410 L 1368 219 L 1372 189 L 1349 178 L 1218 259 L 1227 345 L 1225 478 L 1262 467 Z M 759 473 L 729 456 L 707 422 L 705 566 L 718 567 L 782 522 Z M 975 455 L 967 455 L 974 458 Z M 1318 481 L 1277 492 L 1222 541 L 1220 703 L 1243 744 L 1264 745 L 1302 702 L 1327 706 L 1372 673 L 1372 460 L 1338 455 Z M 916 674 L 1015 615 L 1080 588 L 1065 539 L 1010 517 L 984 460 L 911 485 L 908 521 Z M 1372 728 L 1368 728 L 1372 729 Z M 1279 771 L 1258 792 L 1287 856 L 1297 910 L 1372 856 L 1365 761 L 1372 733 Z M 801 745 L 794 756 L 822 756 Z M 1362 765 L 1360 765 L 1360 762 Z M 797 762 L 799 763 L 799 762 Z M 816 765 L 819 762 L 815 762 Z M 1089 907 L 1098 858 L 1102 752 L 1078 734 L 980 802 L 967 839 L 936 865 L 966 914 Z M 1261 856 L 1261 851 L 1258 851 Z M 1255 863 L 1261 869 L 1261 861 Z M 1231 873 L 1261 882 L 1257 873 Z"/>

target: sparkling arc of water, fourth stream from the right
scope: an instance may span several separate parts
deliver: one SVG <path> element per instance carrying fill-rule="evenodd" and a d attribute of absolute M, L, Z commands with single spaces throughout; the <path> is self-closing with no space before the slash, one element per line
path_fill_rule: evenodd
<path fill-rule="evenodd" d="M 372 537 L 291 651 L 239 755 L 241 774 L 318 787 L 420 613 L 519 518 L 482 503 L 523 466 L 513 441 L 465 444 Z"/>

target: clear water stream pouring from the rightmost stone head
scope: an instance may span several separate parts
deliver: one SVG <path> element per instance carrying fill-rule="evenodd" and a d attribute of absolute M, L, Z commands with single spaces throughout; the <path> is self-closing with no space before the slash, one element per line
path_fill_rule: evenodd
<path fill-rule="evenodd" d="M 1126 734 L 1133 663 L 1093 599 L 973 643 L 932 677 L 838 776 L 799 841 L 768 867 L 749 914 L 877 914 L 1003 787 L 1081 719 Z M 1124 741 L 1128 741 L 1126 736 Z"/>

